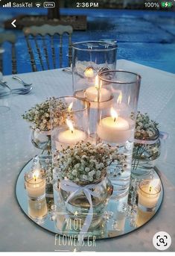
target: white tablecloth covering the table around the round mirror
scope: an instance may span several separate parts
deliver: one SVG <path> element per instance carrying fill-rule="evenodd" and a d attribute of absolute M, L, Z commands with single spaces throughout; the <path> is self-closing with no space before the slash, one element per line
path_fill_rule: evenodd
<path fill-rule="evenodd" d="M 165 187 L 165 198 L 159 213 L 142 228 L 112 240 L 96 241 L 93 251 L 156 251 L 153 234 L 167 231 L 175 245 L 175 75 L 152 69 L 127 60 L 118 60 L 118 69 L 138 72 L 141 77 L 139 110 L 147 112 L 159 122 L 162 131 L 169 133 L 166 149 L 159 159 Z M 42 230 L 22 213 L 15 197 L 16 178 L 22 166 L 39 152 L 31 144 L 28 124 L 21 114 L 49 96 L 72 94 L 71 75 L 61 69 L 20 75 L 34 84 L 31 94 L 13 96 L 11 110 L 0 116 L 0 251 L 54 251 L 71 247 L 54 246 L 54 234 Z M 11 76 L 4 78 L 11 87 L 19 87 Z M 88 250 L 82 249 L 82 250 Z"/>

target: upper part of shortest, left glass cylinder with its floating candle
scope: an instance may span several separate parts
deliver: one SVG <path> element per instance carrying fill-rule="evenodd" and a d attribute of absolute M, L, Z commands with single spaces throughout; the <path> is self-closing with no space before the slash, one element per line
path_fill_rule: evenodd
<path fill-rule="evenodd" d="M 74 96 L 60 97 L 57 100 L 63 102 L 65 108 L 62 110 L 63 122 L 60 125 L 54 125 L 57 111 L 51 104 L 52 152 L 89 139 L 89 102 Z"/>

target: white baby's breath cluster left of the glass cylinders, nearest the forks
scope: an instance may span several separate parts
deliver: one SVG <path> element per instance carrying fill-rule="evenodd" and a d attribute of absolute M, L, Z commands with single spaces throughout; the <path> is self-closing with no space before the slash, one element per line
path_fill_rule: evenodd
<path fill-rule="evenodd" d="M 51 119 L 50 119 L 50 104 L 54 109 L 54 118 L 52 120 L 52 125 L 59 126 L 63 125 L 65 122 L 66 110 L 68 107 L 60 99 L 50 98 L 45 100 L 40 104 L 36 104 L 31 107 L 30 110 L 26 111 L 22 117 L 23 119 L 31 122 L 31 128 L 39 131 L 50 131 L 51 130 Z"/>

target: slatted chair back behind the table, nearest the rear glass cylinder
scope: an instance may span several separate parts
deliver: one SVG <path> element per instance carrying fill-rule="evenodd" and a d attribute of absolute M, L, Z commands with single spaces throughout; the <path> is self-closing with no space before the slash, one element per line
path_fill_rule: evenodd
<path fill-rule="evenodd" d="M 31 58 L 31 65 L 34 72 L 38 71 L 36 60 L 42 70 L 51 69 L 51 62 L 54 69 L 63 67 L 63 34 L 68 34 L 67 54 L 68 64 L 71 65 L 71 35 L 73 28 L 71 25 L 42 25 L 23 28 L 27 41 L 28 52 Z M 59 65 L 56 60 L 55 37 L 60 37 L 59 44 Z M 33 40 L 33 46 L 32 41 Z M 49 41 L 50 42 L 49 42 Z M 49 54 L 49 52 L 51 54 Z M 51 56 L 52 61 L 49 56 Z"/>

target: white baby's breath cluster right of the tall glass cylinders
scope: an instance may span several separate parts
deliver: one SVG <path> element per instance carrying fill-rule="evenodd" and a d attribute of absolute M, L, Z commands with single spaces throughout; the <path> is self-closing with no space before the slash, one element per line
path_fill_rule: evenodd
<path fill-rule="evenodd" d="M 136 116 L 136 139 L 149 139 L 154 137 L 157 133 L 158 123 L 151 120 L 147 113 L 137 113 Z"/>

